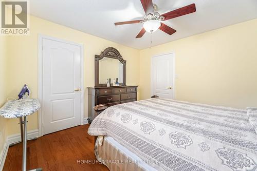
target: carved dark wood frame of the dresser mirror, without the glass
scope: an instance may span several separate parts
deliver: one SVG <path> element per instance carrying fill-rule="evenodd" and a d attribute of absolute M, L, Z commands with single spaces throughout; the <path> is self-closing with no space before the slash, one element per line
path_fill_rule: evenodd
<path fill-rule="evenodd" d="M 120 61 L 120 63 L 123 64 L 123 82 L 120 85 L 126 86 L 126 61 L 123 60 L 122 56 L 120 55 L 120 52 L 117 49 L 113 47 L 108 47 L 104 49 L 104 51 L 102 51 L 100 55 L 95 55 L 95 87 L 107 86 L 107 84 L 99 84 L 99 60 L 103 59 L 104 57 L 117 59 Z M 111 85 L 113 84 L 111 83 Z"/>

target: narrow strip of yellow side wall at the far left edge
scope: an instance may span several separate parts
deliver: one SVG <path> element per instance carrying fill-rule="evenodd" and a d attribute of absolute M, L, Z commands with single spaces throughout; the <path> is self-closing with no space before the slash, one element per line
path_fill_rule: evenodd
<path fill-rule="evenodd" d="M 6 61 L 7 61 L 7 52 L 6 52 L 6 36 L 0 36 L 0 106 L 2 106 L 6 99 L 6 89 L 7 89 L 7 73 L 6 73 Z M 7 119 L 0 117 L 0 156 L 6 140 L 6 124 Z"/>

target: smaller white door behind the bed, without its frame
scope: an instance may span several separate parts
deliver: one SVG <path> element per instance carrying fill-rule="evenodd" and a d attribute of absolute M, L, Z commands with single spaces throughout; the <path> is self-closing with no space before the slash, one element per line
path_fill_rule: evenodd
<path fill-rule="evenodd" d="M 173 75 L 174 75 L 173 53 L 153 56 L 151 68 L 151 91 L 152 96 L 173 99 Z"/>

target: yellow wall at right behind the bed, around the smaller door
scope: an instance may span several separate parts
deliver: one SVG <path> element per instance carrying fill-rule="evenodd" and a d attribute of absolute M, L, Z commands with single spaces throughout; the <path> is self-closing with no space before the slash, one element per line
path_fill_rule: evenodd
<path fill-rule="evenodd" d="M 151 57 L 166 52 L 175 52 L 177 100 L 257 106 L 257 19 L 141 50 L 140 99 L 151 96 Z"/>

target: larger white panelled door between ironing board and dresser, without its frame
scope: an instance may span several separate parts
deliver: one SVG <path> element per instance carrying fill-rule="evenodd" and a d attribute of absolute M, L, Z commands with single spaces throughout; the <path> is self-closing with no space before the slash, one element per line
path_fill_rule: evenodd
<path fill-rule="evenodd" d="M 43 134 L 81 124 L 80 48 L 43 38 Z"/>

